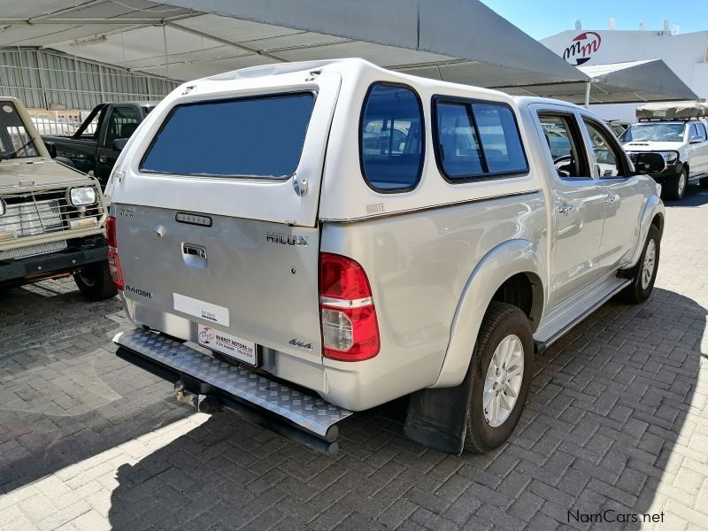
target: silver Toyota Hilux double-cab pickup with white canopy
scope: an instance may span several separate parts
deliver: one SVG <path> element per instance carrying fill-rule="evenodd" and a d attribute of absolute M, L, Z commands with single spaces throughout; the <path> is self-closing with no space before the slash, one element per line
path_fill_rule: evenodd
<path fill-rule="evenodd" d="M 664 168 L 573 104 L 360 59 L 186 83 L 106 190 L 118 355 L 320 451 L 400 397 L 413 440 L 493 450 L 535 353 L 650 296 L 664 205 L 640 173 Z"/>

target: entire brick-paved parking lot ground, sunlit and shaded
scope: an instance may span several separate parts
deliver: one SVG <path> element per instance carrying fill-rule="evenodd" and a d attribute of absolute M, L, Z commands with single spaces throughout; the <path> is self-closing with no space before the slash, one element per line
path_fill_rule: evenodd
<path fill-rule="evenodd" d="M 667 209 L 650 301 L 604 305 L 537 358 L 519 427 L 485 456 L 407 441 L 390 408 L 315 455 L 116 358 L 117 299 L 0 292 L 0 528 L 706 528 L 706 242 L 691 189 Z"/>

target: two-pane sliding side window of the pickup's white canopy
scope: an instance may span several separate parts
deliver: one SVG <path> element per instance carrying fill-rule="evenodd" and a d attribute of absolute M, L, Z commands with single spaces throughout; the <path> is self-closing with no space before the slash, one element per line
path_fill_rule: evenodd
<path fill-rule="evenodd" d="M 508 107 L 438 101 L 435 116 L 435 147 L 449 179 L 528 169 L 519 128 Z"/>

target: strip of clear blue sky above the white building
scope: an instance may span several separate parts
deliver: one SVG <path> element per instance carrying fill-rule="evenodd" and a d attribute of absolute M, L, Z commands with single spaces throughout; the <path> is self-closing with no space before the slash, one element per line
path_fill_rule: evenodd
<path fill-rule="evenodd" d="M 660 30 L 664 19 L 681 27 L 681 33 L 708 30 L 708 0 L 481 0 L 514 26 L 535 39 L 575 27 L 607 29 L 614 18 L 617 29 Z"/>

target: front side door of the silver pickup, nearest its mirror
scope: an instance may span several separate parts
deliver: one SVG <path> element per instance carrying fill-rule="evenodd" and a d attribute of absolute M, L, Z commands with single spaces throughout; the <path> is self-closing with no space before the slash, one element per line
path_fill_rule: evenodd
<path fill-rule="evenodd" d="M 603 276 L 626 264 L 634 253 L 644 194 L 615 135 L 589 116 L 583 115 L 582 122 L 593 174 L 604 193 L 603 238 L 598 256 L 599 274 Z"/>

